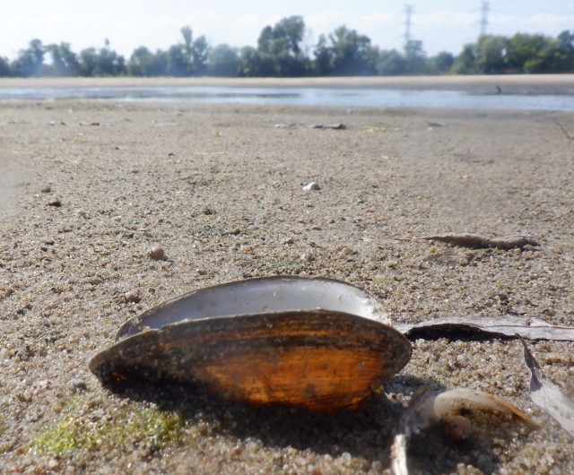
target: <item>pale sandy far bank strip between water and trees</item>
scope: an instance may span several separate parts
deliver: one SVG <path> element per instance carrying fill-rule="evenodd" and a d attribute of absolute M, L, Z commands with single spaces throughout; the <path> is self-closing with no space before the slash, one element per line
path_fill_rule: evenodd
<path fill-rule="evenodd" d="M 237 87 L 491 91 L 497 86 L 503 91 L 563 94 L 574 90 L 574 74 L 353 76 L 320 78 L 0 78 L 0 88 Z"/>

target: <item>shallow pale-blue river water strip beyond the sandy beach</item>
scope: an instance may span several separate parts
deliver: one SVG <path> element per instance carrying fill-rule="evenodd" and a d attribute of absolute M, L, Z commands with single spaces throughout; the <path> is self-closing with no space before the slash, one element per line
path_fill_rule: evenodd
<path fill-rule="evenodd" d="M 92 99 L 166 101 L 213 104 L 373 108 L 480 108 L 574 111 L 574 94 L 497 94 L 469 91 L 429 91 L 342 88 L 248 87 L 74 87 L 0 88 L 0 100 Z"/>

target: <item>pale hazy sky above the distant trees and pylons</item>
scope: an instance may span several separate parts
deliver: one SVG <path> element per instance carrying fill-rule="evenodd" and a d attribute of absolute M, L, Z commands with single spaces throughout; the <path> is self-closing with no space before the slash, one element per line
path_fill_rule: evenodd
<path fill-rule="evenodd" d="M 260 31 L 284 17 L 301 15 L 307 43 L 344 24 L 380 48 L 402 48 L 405 4 L 413 5 L 412 37 L 429 55 L 457 54 L 480 31 L 480 0 L 13 0 L 0 14 L 0 56 L 13 59 L 30 39 L 70 43 L 74 52 L 111 48 L 129 57 L 139 46 L 167 49 L 189 25 L 210 44 L 256 46 Z M 574 30 L 574 0 L 490 0 L 487 32 L 517 31 L 556 36 Z"/>

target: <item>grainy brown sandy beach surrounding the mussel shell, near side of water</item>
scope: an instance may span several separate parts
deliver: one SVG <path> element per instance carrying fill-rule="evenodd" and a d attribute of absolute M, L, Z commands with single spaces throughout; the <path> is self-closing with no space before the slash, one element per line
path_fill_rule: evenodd
<path fill-rule="evenodd" d="M 53 81 L 42 84 L 69 80 Z M 531 402 L 515 340 L 413 341 L 385 393 L 335 414 L 201 387 L 114 393 L 87 366 L 146 308 L 275 274 L 349 281 L 400 322 L 574 325 L 573 137 L 574 114 L 558 112 L 1 103 L 0 471 L 389 474 L 404 406 L 432 385 L 493 393 L 541 427 L 470 416 L 458 443 L 432 428 L 413 439 L 412 473 L 574 472 L 572 440 Z M 321 189 L 303 191 L 311 181 Z M 541 246 L 409 240 L 462 232 Z M 529 345 L 574 394 L 574 343 Z"/>

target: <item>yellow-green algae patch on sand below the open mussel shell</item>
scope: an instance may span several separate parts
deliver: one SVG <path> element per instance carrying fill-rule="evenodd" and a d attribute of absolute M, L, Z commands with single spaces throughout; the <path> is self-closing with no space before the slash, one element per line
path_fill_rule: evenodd
<path fill-rule="evenodd" d="M 74 400 L 68 403 L 59 418 L 31 441 L 30 453 L 64 456 L 121 445 L 158 450 L 184 436 L 186 421 L 172 411 L 126 405 L 104 415 L 78 410 L 78 405 Z"/>

